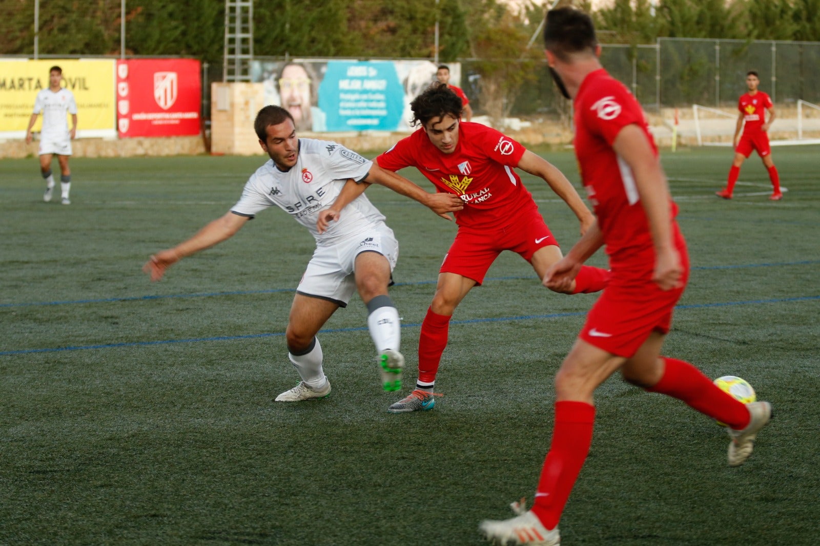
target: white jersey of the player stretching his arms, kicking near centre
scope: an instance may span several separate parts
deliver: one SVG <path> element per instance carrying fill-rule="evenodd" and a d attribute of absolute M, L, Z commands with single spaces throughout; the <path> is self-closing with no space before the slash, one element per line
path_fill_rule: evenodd
<path fill-rule="evenodd" d="M 230 210 L 253 217 L 276 205 L 310 230 L 317 245 L 339 243 L 384 224 L 385 216 L 362 193 L 344 207 L 339 221 L 330 222 L 325 233 L 319 234 L 316 227 L 319 212 L 335 202 L 347 180 L 364 179 L 372 165 L 341 144 L 299 139 L 296 165 L 282 172 L 273 160 L 266 162 L 251 175 L 242 197 Z"/>

